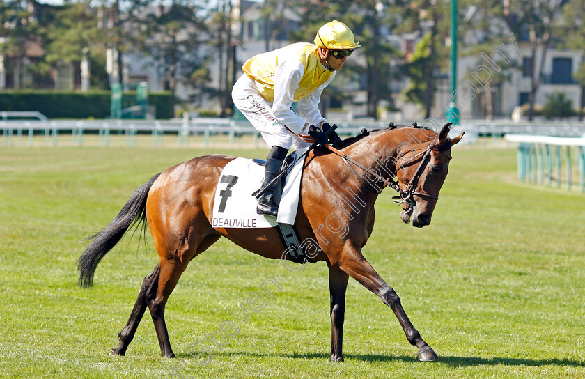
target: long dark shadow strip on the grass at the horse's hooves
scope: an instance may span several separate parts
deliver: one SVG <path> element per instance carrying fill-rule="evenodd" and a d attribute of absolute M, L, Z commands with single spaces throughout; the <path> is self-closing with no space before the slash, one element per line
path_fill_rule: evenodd
<path fill-rule="evenodd" d="M 215 353 L 220 356 L 232 356 L 232 355 L 245 355 L 249 357 L 281 357 L 290 359 L 329 359 L 327 353 L 290 353 L 290 354 L 278 354 L 278 353 L 245 353 L 245 352 L 221 352 Z M 179 354 L 178 357 L 192 357 L 189 354 Z M 407 357 L 405 355 L 379 355 L 379 354 L 345 354 L 343 355 L 345 360 L 356 360 L 365 362 L 412 362 L 417 363 L 419 359 L 416 357 Z M 504 366 L 572 366 L 572 367 L 585 367 L 585 361 L 575 359 L 521 359 L 521 358 L 506 358 L 506 357 L 490 357 L 490 358 L 479 358 L 479 357 L 453 357 L 453 356 L 442 356 L 439 361 L 441 364 L 447 366 L 497 366 L 499 364 Z"/>

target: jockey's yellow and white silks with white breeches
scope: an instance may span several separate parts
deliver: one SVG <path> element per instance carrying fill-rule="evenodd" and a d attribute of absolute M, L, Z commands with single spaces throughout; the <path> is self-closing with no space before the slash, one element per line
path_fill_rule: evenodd
<path fill-rule="evenodd" d="M 335 72 L 321 64 L 316 45 L 295 43 L 258 54 L 242 70 L 232 91 L 234 104 L 268 146 L 290 148 L 297 141 L 293 134 L 306 134 L 309 125 L 326 122 L 318 104 Z"/>

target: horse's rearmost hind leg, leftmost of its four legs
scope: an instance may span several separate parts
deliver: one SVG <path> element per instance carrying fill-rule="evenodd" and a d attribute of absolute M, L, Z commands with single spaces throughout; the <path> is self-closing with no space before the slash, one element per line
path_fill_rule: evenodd
<path fill-rule="evenodd" d="M 146 297 L 148 293 L 151 293 L 153 290 L 156 291 L 159 272 L 160 266 L 157 265 L 157 267 L 155 267 L 155 269 L 150 272 L 150 274 L 144 277 L 144 281 L 142 282 L 142 286 L 140 288 L 136 303 L 134 304 L 134 308 L 132 309 L 132 313 L 130 314 L 130 318 L 128 318 L 128 322 L 126 323 L 122 332 L 118 333 L 118 337 L 120 337 L 120 343 L 118 343 L 117 348 L 111 349 L 110 355 L 126 354 L 126 349 L 128 348 L 128 345 L 130 345 L 130 342 L 132 342 L 132 339 L 134 339 L 134 334 L 136 334 L 140 320 L 142 319 L 144 311 L 146 311 Z"/>

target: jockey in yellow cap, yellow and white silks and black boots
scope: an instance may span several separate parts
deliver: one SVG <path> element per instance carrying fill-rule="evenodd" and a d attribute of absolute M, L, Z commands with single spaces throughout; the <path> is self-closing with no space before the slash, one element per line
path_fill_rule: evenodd
<path fill-rule="evenodd" d="M 279 173 L 291 146 L 304 144 L 297 134 L 309 133 L 315 141 L 327 144 L 325 132 L 331 126 L 318 108 L 321 93 L 359 46 L 348 26 L 331 21 L 321 26 L 314 45 L 295 43 L 244 63 L 245 75 L 234 84 L 232 98 L 271 146 L 262 187 Z M 293 102 L 297 102 L 297 112 L 292 110 Z M 333 132 L 329 140 L 336 143 L 339 137 Z M 276 184 L 258 199 L 258 214 L 277 215 L 275 190 Z"/>

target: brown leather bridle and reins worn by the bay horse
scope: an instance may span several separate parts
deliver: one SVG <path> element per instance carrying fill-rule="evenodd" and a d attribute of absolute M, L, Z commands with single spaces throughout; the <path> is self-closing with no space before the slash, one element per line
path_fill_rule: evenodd
<path fill-rule="evenodd" d="M 419 163 L 419 167 L 416 168 L 416 171 L 415 171 L 414 175 L 412 176 L 412 178 L 410 178 L 410 181 L 409 181 L 405 190 L 400 188 L 400 185 L 398 185 L 398 183 L 393 180 L 393 178 L 396 178 L 396 174 L 392 174 L 393 178 L 390 178 L 390 177 L 384 178 L 377 173 L 371 173 L 377 182 L 382 182 L 382 188 L 377 189 L 376 187 L 374 187 L 373 185 L 368 183 L 366 180 L 364 180 L 364 178 L 359 176 L 359 173 L 357 173 L 357 171 L 355 171 L 355 169 L 352 167 L 352 164 L 353 164 L 354 166 L 357 166 L 364 171 L 368 171 L 368 168 L 365 167 L 364 164 L 357 162 L 352 157 L 348 157 L 348 155 L 345 155 L 345 153 L 342 153 L 341 151 L 337 150 L 336 148 L 334 148 L 330 145 L 325 145 L 325 146 L 329 150 L 331 150 L 333 153 L 336 153 L 336 155 L 339 155 L 343 159 L 343 162 L 345 162 L 345 164 L 348 165 L 348 167 L 350 168 L 350 170 L 352 171 L 354 176 L 356 176 L 356 178 L 358 178 L 358 180 L 362 184 L 364 184 L 366 188 L 370 189 L 370 191 L 375 192 L 376 194 L 381 194 L 382 190 L 385 187 L 390 187 L 390 188 L 394 189 L 396 192 L 398 192 L 398 196 L 393 196 L 393 198 L 392 198 L 392 199 L 395 199 L 394 202 L 397 203 L 398 205 L 404 203 L 407 205 L 407 209 L 408 209 L 408 208 L 412 208 L 416 205 L 416 200 L 414 199 L 414 196 L 425 197 L 427 199 L 432 199 L 432 200 L 439 199 L 439 196 L 425 194 L 423 192 L 416 191 L 416 187 L 418 187 L 418 185 L 419 185 L 419 180 L 421 178 L 421 174 L 423 173 L 423 168 L 426 166 L 425 165 L 426 159 L 430 155 L 431 151 L 438 151 L 439 153 L 442 153 L 443 155 L 448 157 L 449 160 L 451 160 L 451 155 L 448 154 L 447 150 L 442 150 L 440 148 L 437 148 L 438 141 L 439 141 L 439 134 L 437 134 L 435 139 L 433 139 L 430 142 L 430 144 L 427 146 L 427 148 L 425 150 L 414 155 L 414 157 L 410 158 L 407 162 L 405 162 L 405 164 L 402 164 L 402 165 L 400 165 L 400 167 L 396 168 L 396 173 L 398 173 L 398 171 L 400 169 L 403 169 L 404 167 L 406 167 L 406 164 L 410 164 L 410 163 L 414 162 L 414 160 L 416 160 L 417 157 L 422 155 L 421 162 Z"/>

